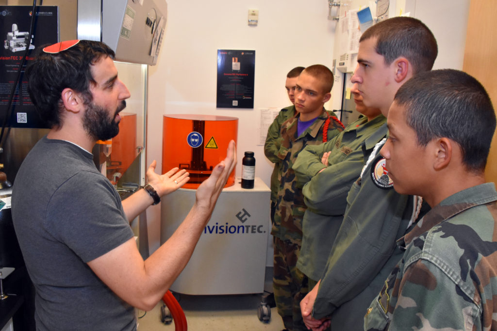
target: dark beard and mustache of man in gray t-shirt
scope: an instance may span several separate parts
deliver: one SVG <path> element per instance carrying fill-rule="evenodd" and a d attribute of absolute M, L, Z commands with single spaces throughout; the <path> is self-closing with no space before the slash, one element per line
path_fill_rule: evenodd
<path fill-rule="evenodd" d="M 90 102 L 84 113 L 84 130 L 95 140 L 108 140 L 115 137 L 119 133 L 119 123 L 115 122 L 115 117 L 125 107 L 126 101 L 123 100 L 110 119 L 105 108 Z"/>

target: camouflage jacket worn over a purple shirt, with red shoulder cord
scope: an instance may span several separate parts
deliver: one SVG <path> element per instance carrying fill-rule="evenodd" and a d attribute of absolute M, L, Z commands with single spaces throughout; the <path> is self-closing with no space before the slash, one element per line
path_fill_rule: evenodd
<path fill-rule="evenodd" d="M 296 185 L 292 166 L 299 153 L 307 145 L 323 143 L 323 126 L 329 116 L 325 111 L 323 108 L 323 113 L 300 136 L 297 136 L 299 114 L 287 120 L 281 127 L 281 145 L 277 153 L 281 160 L 278 172 L 278 198 L 271 234 L 298 245 L 302 242 L 302 217 L 306 205 L 302 196 L 302 188 Z M 333 138 L 342 130 L 340 123 L 330 118 L 328 139 Z"/>

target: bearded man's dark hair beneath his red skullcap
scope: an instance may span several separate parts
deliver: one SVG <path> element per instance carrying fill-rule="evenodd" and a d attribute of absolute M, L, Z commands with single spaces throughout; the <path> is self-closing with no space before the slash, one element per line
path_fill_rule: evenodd
<path fill-rule="evenodd" d="M 91 66 L 102 57 L 114 56 L 107 45 L 90 40 L 80 40 L 58 53 L 45 53 L 40 47 L 25 73 L 29 96 L 41 119 L 51 128 L 61 127 L 61 96 L 65 88 L 81 93 L 83 102 L 89 104 L 93 100 L 90 83 L 95 84 Z"/>

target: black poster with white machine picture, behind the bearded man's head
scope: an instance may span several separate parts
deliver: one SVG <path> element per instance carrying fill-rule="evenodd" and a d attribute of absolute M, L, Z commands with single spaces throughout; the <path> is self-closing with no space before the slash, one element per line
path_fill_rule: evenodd
<path fill-rule="evenodd" d="M 24 69 L 34 60 L 35 50 L 46 44 L 59 41 L 58 7 L 35 7 L 33 34 L 29 36 L 32 6 L 0 6 L 0 126 L 7 114 L 8 102 L 18 75 L 22 57 L 28 48 L 26 62 L 21 68 L 20 81 L 15 85 L 11 116 L 7 127 L 47 128 L 35 110 L 27 91 Z"/>

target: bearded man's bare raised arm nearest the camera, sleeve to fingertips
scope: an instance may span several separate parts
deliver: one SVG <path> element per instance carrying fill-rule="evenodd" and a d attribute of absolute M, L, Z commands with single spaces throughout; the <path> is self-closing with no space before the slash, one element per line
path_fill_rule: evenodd
<path fill-rule="evenodd" d="M 236 149 L 231 141 L 225 160 L 198 187 L 195 204 L 186 218 L 146 261 L 130 239 L 88 265 L 120 298 L 134 307 L 152 309 L 187 264 L 235 165 Z"/>

